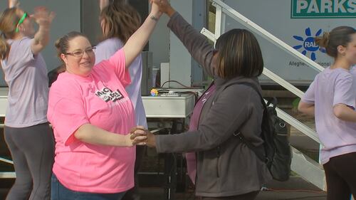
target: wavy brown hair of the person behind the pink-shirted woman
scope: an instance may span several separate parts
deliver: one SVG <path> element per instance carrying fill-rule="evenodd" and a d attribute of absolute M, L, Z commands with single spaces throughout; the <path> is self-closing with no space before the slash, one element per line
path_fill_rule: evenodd
<path fill-rule="evenodd" d="M 100 19 L 108 25 L 104 39 L 119 38 L 126 43 L 132 33 L 140 27 L 140 14 L 123 1 L 114 1 L 100 13 Z"/>

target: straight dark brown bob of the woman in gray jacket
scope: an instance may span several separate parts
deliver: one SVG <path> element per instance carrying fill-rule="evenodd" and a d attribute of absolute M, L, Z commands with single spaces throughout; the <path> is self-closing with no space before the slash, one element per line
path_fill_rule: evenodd
<path fill-rule="evenodd" d="M 222 34 L 216 41 L 216 58 L 221 78 L 257 77 L 263 71 L 261 48 L 255 36 L 246 29 L 235 28 Z"/>

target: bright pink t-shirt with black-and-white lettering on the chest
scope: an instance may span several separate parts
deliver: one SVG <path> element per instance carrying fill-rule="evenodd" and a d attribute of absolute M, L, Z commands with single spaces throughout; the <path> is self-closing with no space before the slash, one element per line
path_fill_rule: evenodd
<path fill-rule="evenodd" d="M 135 126 L 125 91 L 130 81 L 120 50 L 95 65 L 88 77 L 65 72 L 51 86 L 47 116 L 56 138 L 53 173 L 68 189 L 117 193 L 134 186 L 134 147 L 88 144 L 73 135 L 85 123 L 127 135 Z"/>

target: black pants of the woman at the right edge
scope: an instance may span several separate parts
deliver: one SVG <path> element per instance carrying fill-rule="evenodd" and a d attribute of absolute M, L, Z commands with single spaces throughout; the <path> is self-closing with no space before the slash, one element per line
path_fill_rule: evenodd
<path fill-rule="evenodd" d="M 350 200 L 351 194 L 356 197 L 356 152 L 332 157 L 323 166 L 328 200 Z"/>

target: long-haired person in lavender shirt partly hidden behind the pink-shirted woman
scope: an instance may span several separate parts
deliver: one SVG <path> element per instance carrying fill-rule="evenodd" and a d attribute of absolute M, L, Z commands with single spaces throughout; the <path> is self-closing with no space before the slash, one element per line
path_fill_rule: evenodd
<path fill-rule="evenodd" d="M 125 45 L 128 38 L 140 27 L 140 14 L 129 4 L 122 0 L 110 3 L 108 0 L 100 0 L 100 26 L 103 30 L 103 41 L 95 50 L 95 62 L 110 58 L 118 49 Z M 135 108 L 135 122 L 137 126 L 147 129 L 146 113 L 141 98 L 142 58 L 137 56 L 130 65 L 131 84 L 125 90 Z M 140 199 L 138 194 L 137 172 L 145 154 L 145 146 L 136 146 L 135 161 L 135 187 L 126 192 L 123 200 Z"/>

